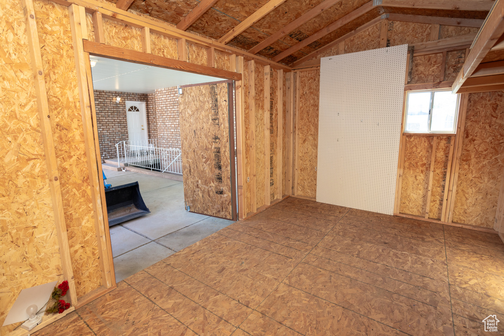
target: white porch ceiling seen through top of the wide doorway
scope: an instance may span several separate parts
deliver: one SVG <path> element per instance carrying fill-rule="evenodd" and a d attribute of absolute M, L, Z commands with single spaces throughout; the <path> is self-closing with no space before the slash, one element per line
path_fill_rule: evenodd
<path fill-rule="evenodd" d="M 95 90 L 153 93 L 156 89 L 223 80 L 99 56 L 90 57 L 96 61 L 91 68 Z"/>

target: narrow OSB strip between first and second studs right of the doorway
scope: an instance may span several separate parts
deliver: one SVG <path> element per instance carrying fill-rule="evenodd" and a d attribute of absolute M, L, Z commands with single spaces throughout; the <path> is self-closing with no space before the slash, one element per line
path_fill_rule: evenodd
<path fill-rule="evenodd" d="M 265 169 L 269 169 L 269 162 L 264 162 L 264 125 L 267 120 L 264 119 L 264 66 L 256 64 L 256 115 L 252 122 L 256 122 L 256 205 L 257 208 L 264 206 L 265 198 Z"/>

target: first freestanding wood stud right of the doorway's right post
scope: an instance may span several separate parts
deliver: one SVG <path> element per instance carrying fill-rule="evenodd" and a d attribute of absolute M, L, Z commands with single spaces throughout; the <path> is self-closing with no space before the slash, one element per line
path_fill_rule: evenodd
<path fill-rule="evenodd" d="M 249 162 L 249 192 L 250 192 L 250 210 L 257 212 L 256 202 L 256 61 L 248 61 L 248 147 Z"/>

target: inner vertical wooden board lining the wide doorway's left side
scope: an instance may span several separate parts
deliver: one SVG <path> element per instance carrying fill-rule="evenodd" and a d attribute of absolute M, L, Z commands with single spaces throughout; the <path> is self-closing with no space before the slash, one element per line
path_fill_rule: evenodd
<path fill-rule="evenodd" d="M 93 125 L 97 125 L 96 121 L 96 105 L 94 100 L 94 89 L 93 89 L 93 78 L 91 72 L 91 63 L 89 61 L 89 53 L 85 53 L 86 59 L 86 77 L 88 81 L 88 92 L 89 92 L 89 101 L 91 107 L 91 122 Z M 100 155 L 100 143 L 98 139 L 98 127 L 93 127 L 93 138 L 94 138 L 94 148 L 96 155 L 96 163 L 98 168 L 98 176 L 100 176 L 100 171 L 103 171 L 103 167 L 101 165 L 101 155 Z M 98 177 L 99 178 L 99 177 Z M 113 255 L 112 255 L 112 242 L 110 240 L 110 228 L 108 226 L 108 214 L 107 214 L 107 205 L 105 203 L 105 188 L 100 185 L 100 193 L 97 195 L 96 199 L 98 202 L 98 206 L 101 206 L 101 211 L 103 214 L 103 225 L 99 225 L 96 228 L 96 238 L 98 241 L 98 253 L 100 256 L 100 266 L 102 266 L 104 277 L 102 285 L 106 288 L 110 288 L 115 286 L 115 272 L 114 272 L 114 264 L 113 264 Z"/>

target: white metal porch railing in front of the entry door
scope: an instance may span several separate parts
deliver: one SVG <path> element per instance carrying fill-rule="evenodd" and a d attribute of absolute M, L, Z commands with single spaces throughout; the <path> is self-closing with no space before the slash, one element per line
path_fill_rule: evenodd
<path fill-rule="evenodd" d="M 156 139 L 148 142 L 121 141 L 115 144 L 117 165 L 136 166 L 160 172 L 182 175 L 181 151 L 173 148 L 160 148 Z"/>

